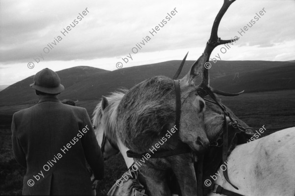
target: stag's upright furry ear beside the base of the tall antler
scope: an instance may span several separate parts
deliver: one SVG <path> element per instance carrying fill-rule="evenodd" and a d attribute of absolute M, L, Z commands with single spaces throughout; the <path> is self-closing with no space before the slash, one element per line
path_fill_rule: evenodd
<path fill-rule="evenodd" d="M 194 62 L 189 72 L 181 79 L 184 83 L 193 84 L 195 86 L 199 85 L 196 84 L 196 79 L 200 76 L 202 77 L 207 56 L 207 53 L 203 53 L 202 56 L 200 56 L 198 60 Z"/>

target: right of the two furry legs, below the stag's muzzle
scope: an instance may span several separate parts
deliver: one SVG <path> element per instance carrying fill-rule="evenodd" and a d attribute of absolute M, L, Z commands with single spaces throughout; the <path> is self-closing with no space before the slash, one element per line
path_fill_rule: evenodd
<path fill-rule="evenodd" d="M 182 196 L 197 196 L 197 179 L 190 153 L 169 157 Z"/>

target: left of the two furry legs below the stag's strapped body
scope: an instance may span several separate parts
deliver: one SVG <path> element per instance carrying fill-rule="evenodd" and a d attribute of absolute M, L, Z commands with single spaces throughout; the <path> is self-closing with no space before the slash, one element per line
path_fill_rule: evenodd
<path fill-rule="evenodd" d="M 167 183 L 167 173 L 148 166 L 140 168 L 141 174 L 146 179 L 148 196 L 171 196 L 171 191 Z"/>

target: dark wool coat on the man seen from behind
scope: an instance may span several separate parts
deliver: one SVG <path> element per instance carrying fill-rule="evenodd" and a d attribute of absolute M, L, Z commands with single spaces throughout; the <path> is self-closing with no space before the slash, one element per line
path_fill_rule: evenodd
<path fill-rule="evenodd" d="M 103 156 L 86 109 L 46 97 L 14 113 L 11 130 L 14 156 L 27 168 L 23 195 L 90 195 L 85 159 L 96 179 L 103 178 Z"/>

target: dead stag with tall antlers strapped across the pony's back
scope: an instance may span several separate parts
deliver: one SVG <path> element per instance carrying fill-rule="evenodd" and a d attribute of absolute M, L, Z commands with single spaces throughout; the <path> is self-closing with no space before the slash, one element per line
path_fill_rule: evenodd
<path fill-rule="evenodd" d="M 233 112 L 226 110 L 225 106 L 220 105 L 220 102 L 216 100 L 213 94 L 235 96 L 242 92 L 226 93 L 213 89 L 209 86 L 208 76 L 208 68 L 210 68 L 209 58 L 214 48 L 221 44 L 232 43 L 238 39 L 236 36 L 234 39 L 222 40 L 217 35 L 220 21 L 234 1 L 224 0 L 223 6 L 214 20 L 204 53 L 182 79 L 175 82 L 170 78 L 157 76 L 145 80 L 127 91 L 116 107 L 109 105 L 106 98 L 102 100 L 103 129 L 108 130 L 106 136 L 113 143 L 116 143 L 119 139 L 124 146 L 131 149 L 134 153 L 143 155 L 145 160 L 139 157 L 135 157 L 134 160 L 136 163 L 141 164 L 141 173 L 145 176 L 148 194 L 151 196 L 171 195 L 170 189 L 167 186 L 167 176 L 170 170 L 167 168 L 171 168 L 174 171 L 182 195 L 197 195 L 194 160 L 198 159 L 198 156 L 192 158 L 191 153 L 182 153 L 169 157 L 149 159 L 151 156 L 148 150 L 150 150 L 151 146 L 154 148 L 153 145 L 158 144 L 161 139 L 164 140 L 165 133 L 168 130 L 172 131 L 173 127 L 179 124 L 175 137 L 171 137 L 169 141 L 165 138 L 165 142 L 161 140 L 161 151 L 171 151 L 176 150 L 180 146 L 189 146 L 195 154 L 202 154 L 207 150 L 209 140 L 214 141 L 223 131 L 227 130 L 223 130 L 223 127 L 220 127 L 223 123 L 226 125 L 227 123 L 236 122 L 235 126 L 243 124 L 241 121 L 233 121 L 233 117 L 235 117 Z M 180 65 L 174 79 L 178 77 L 182 66 L 183 64 Z M 196 79 L 201 75 L 202 83 L 198 85 Z M 178 84 L 180 88 L 181 116 L 179 123 L 176 123 L 178 122 L 177 115 L 175 115 L 178 113 Z M 206 105 L 203 97 L 207 94 L 211 97 L 213 96 L 213 101 L 221 108 L 218 109 L 217 106 L 213 106 L 211 108 L 213 113 L 209 112 L 207 117 L 207 119 L 216 119 L 215 122 L 207 124 L 207 126 L 215 126 L 217 128 L 215 132 L 212 131 L 214 128 L 210 129 L 205 126 L 207 119 L 205 114 Z M 222 113 L 224 113 L 224 118 L 222 118 Z M 216 123 L 218 118 L 224 119 L 222 120 L 223 123 Z M 110 121 L 110 119 L 113 120 Z M 232 127 L 234 125 L 232 124 Z M 206 130 L 209 131 L 206 132 Z"/>

